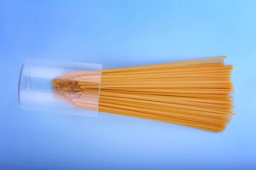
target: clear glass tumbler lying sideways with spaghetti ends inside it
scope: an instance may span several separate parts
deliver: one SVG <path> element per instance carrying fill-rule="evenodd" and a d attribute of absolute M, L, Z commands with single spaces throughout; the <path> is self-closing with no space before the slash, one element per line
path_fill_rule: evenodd
<path fill-rule="evenodd" d="M 99 64 L 27 59 L 18 83 L 20 108 L 97 116 L 101 74 Z"/>

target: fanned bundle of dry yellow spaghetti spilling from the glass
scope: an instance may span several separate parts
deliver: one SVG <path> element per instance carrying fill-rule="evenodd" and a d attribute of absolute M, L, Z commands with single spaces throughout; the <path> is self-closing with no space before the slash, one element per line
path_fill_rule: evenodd
<path fill-rule="evenodd" d="M 54 79 L 56 97 L 97 110 L 223 132 L 235 113 L 232 65 L 214 57 L 159 65 L 76 72 Z M 100 88 L 100 96 L 98 92 Z"/>

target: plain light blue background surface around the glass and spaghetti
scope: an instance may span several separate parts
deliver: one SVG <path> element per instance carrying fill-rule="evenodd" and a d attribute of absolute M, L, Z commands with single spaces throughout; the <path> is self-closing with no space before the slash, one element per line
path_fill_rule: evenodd
<path fill-rule="evenodd" d="M 20 111 L 28 57 L 123 68 L 227 55 L 224 133 L 99 113 Z M 0 169 L 255 169 L 255 0 L 0 0 Z"/>

